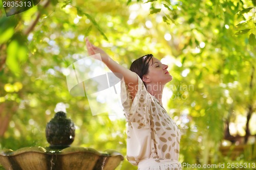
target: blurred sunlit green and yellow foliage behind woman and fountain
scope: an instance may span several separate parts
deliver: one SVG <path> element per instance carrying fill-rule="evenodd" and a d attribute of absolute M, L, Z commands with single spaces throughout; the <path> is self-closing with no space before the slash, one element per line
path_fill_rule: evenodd
<path fill-rule="evenodd" d="M 165 108 L 183 133 L 180 162 L 255 162 L 255 1 L 66 0 L 9 17 L 2 5 L 0 150 L 47 147 L 46 124 L 63 102 L 72 145 L 125 155 L 124 117 L 92 116 L 87 98 L 68 91 L 64 70 L 87 56 L 89 36 L 125 67 L 148 53 L 168 64 Z M 227 125 L 240 138 L 225 140 Z M 246 135 L 254 138 L 240 141 Z M 234 159 L 220 152 L 232 142 L 247 144 Z M 124 160 L 119 169 L 136 167 Z"/>

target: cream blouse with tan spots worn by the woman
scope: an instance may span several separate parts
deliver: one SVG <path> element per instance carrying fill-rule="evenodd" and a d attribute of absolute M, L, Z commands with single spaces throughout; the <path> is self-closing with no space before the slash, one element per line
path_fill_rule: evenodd
<path fill-rule="evenodd" d="M 180 150 L 180 130 L 155 96 L 138 77 L 134 100 L 121 81 L 121 100 L 127 124 L 127 160 L 138 165 L 140 160 L 177 160 Z"/>

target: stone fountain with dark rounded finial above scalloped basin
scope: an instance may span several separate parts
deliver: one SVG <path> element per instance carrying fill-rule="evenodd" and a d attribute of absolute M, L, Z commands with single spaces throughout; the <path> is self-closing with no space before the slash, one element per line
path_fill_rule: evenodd
<path fill-rule="evenodd" d="M 46 126 L 50 147 L 2 150 L 0 164 L 8 170 L 113 170 L 123 160 L 114 150 L 99 152 L 92 148 L 70 147 L 74 137 L 74 123 L 66 112 L 57 111 Z"/>

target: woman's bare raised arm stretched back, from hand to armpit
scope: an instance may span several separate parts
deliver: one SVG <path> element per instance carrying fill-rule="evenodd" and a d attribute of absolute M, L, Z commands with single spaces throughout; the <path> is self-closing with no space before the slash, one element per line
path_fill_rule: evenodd
<path fill-rule="evenodd" d="M 123 75 L 125 84 L 127 84 L 130 94 L 134 98 L 138 90 L 138 76 L 135 72 L 123 67 L 115 62 L 108 54 L 101 48 L 93 45 L 88 38 L 86 38 L 86 46 L 89 55 L 100 54 L 102 62 L 109 67 L 112 72 L 118 72 Z"/>

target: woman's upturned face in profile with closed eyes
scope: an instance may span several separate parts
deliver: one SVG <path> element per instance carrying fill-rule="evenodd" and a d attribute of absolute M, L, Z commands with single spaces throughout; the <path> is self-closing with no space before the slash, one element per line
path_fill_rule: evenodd
<path fill-rule="evenodd" d="M 152 61 L 153 60 L 153 61 Z M 160 60 L 152 57 L 148 67 L 148 73 L 145 75 L 151 83 L 160 83 L 165 85 L 173 80 L 173 77 L 167 71 L 168 66 L 162 64 Z"/>

